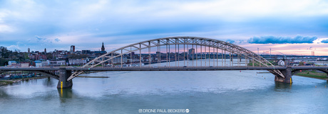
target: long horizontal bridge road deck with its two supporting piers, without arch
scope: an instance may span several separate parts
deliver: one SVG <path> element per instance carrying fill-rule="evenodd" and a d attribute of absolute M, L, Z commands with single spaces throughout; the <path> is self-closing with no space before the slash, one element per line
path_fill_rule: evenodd
<path fill-rule="evenodd" d="M 39 72 L 50 76 L 53 79 L 63 80 L 68 79 L 68 76 L 71 76 L 72 72 L 77 71 L 214 71 L 214 70 L 279 70 L 286 77 L 279 78 L 275 77 L 275 81 L 280 81 L 284 83 L 292 83 L 292 75 L 300 72 L 301 70 L 307 69 L 316 69 L 322 72 L 325 72 L 328 77 L 328 67 L 40 67 L 40 68 L 0 68 L 0 73 L 9 72 L 9 71 L 31 71 Z M 55 72 L 58 72 L 55 74 Z M 288 81 L 289 80 L 289 81 Z M 65 86 L 71 87 L 73 85 L 72 81 L 58 81 L 58 88 L 65 88 Z"/>

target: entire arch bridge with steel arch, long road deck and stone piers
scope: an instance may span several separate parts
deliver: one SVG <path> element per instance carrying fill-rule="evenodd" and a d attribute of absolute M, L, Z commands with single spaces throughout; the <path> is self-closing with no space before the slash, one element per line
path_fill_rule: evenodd
<path fill-rule="evenodd" d="M 0 68 L 0 73 L 39 72 L 58 79 L 58 88 L 69 88 L 73 85 L 72 79 L 86 71 L 267 70 L 275 75 L 275 81 L 292 83 L 292 73 L 299 69 L 319 69 L 327 73 L 328 67 L 277 67 L 255 52 L 229 42 L 199 37 L 169 37 L 118 48 L 83 67 Z M 59 74 L 51 71 L 59 71 Z"/>

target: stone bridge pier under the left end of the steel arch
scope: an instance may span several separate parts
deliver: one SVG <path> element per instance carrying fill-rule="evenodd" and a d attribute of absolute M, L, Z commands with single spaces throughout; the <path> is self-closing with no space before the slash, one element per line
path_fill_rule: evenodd
<path fill-rule="evenodd" d="M 57 84 L 58 89 L 66 89 L 71 88 L 73 86 L 73 82 L 67 81 L 68 77 L 71 76 L 72 72 L 71 70 L 66 70 L 66 68 L 60 68 L 59 69 L 59 81 Z"/>

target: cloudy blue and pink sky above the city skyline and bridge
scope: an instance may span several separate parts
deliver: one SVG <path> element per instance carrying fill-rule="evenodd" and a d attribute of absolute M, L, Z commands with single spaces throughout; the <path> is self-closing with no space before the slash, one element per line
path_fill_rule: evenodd
<path fill-rule="evenodd" d="M 328 1 L 0 0 L 0 46 L 107 51 L 197 36 L 285 55 L 328 55 Z"/>

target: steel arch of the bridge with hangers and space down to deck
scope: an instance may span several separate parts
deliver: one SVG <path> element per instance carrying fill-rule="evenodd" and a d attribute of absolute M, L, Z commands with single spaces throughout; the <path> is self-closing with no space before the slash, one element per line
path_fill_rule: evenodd
<path fill-rule="evenodd" d="M 267 67 L 277 79 L 286 79 L 271 62 L 244 47 L 222 40 L 188 36 L 158 38 L 127 45 L 96 57 L 82 68 L 96 67 L 113 70 L 229 70 L 234 69 L 232 67 Z M 77 70 L 66 81 L 71 81 L 83 72 L 85 70 Z"/>

